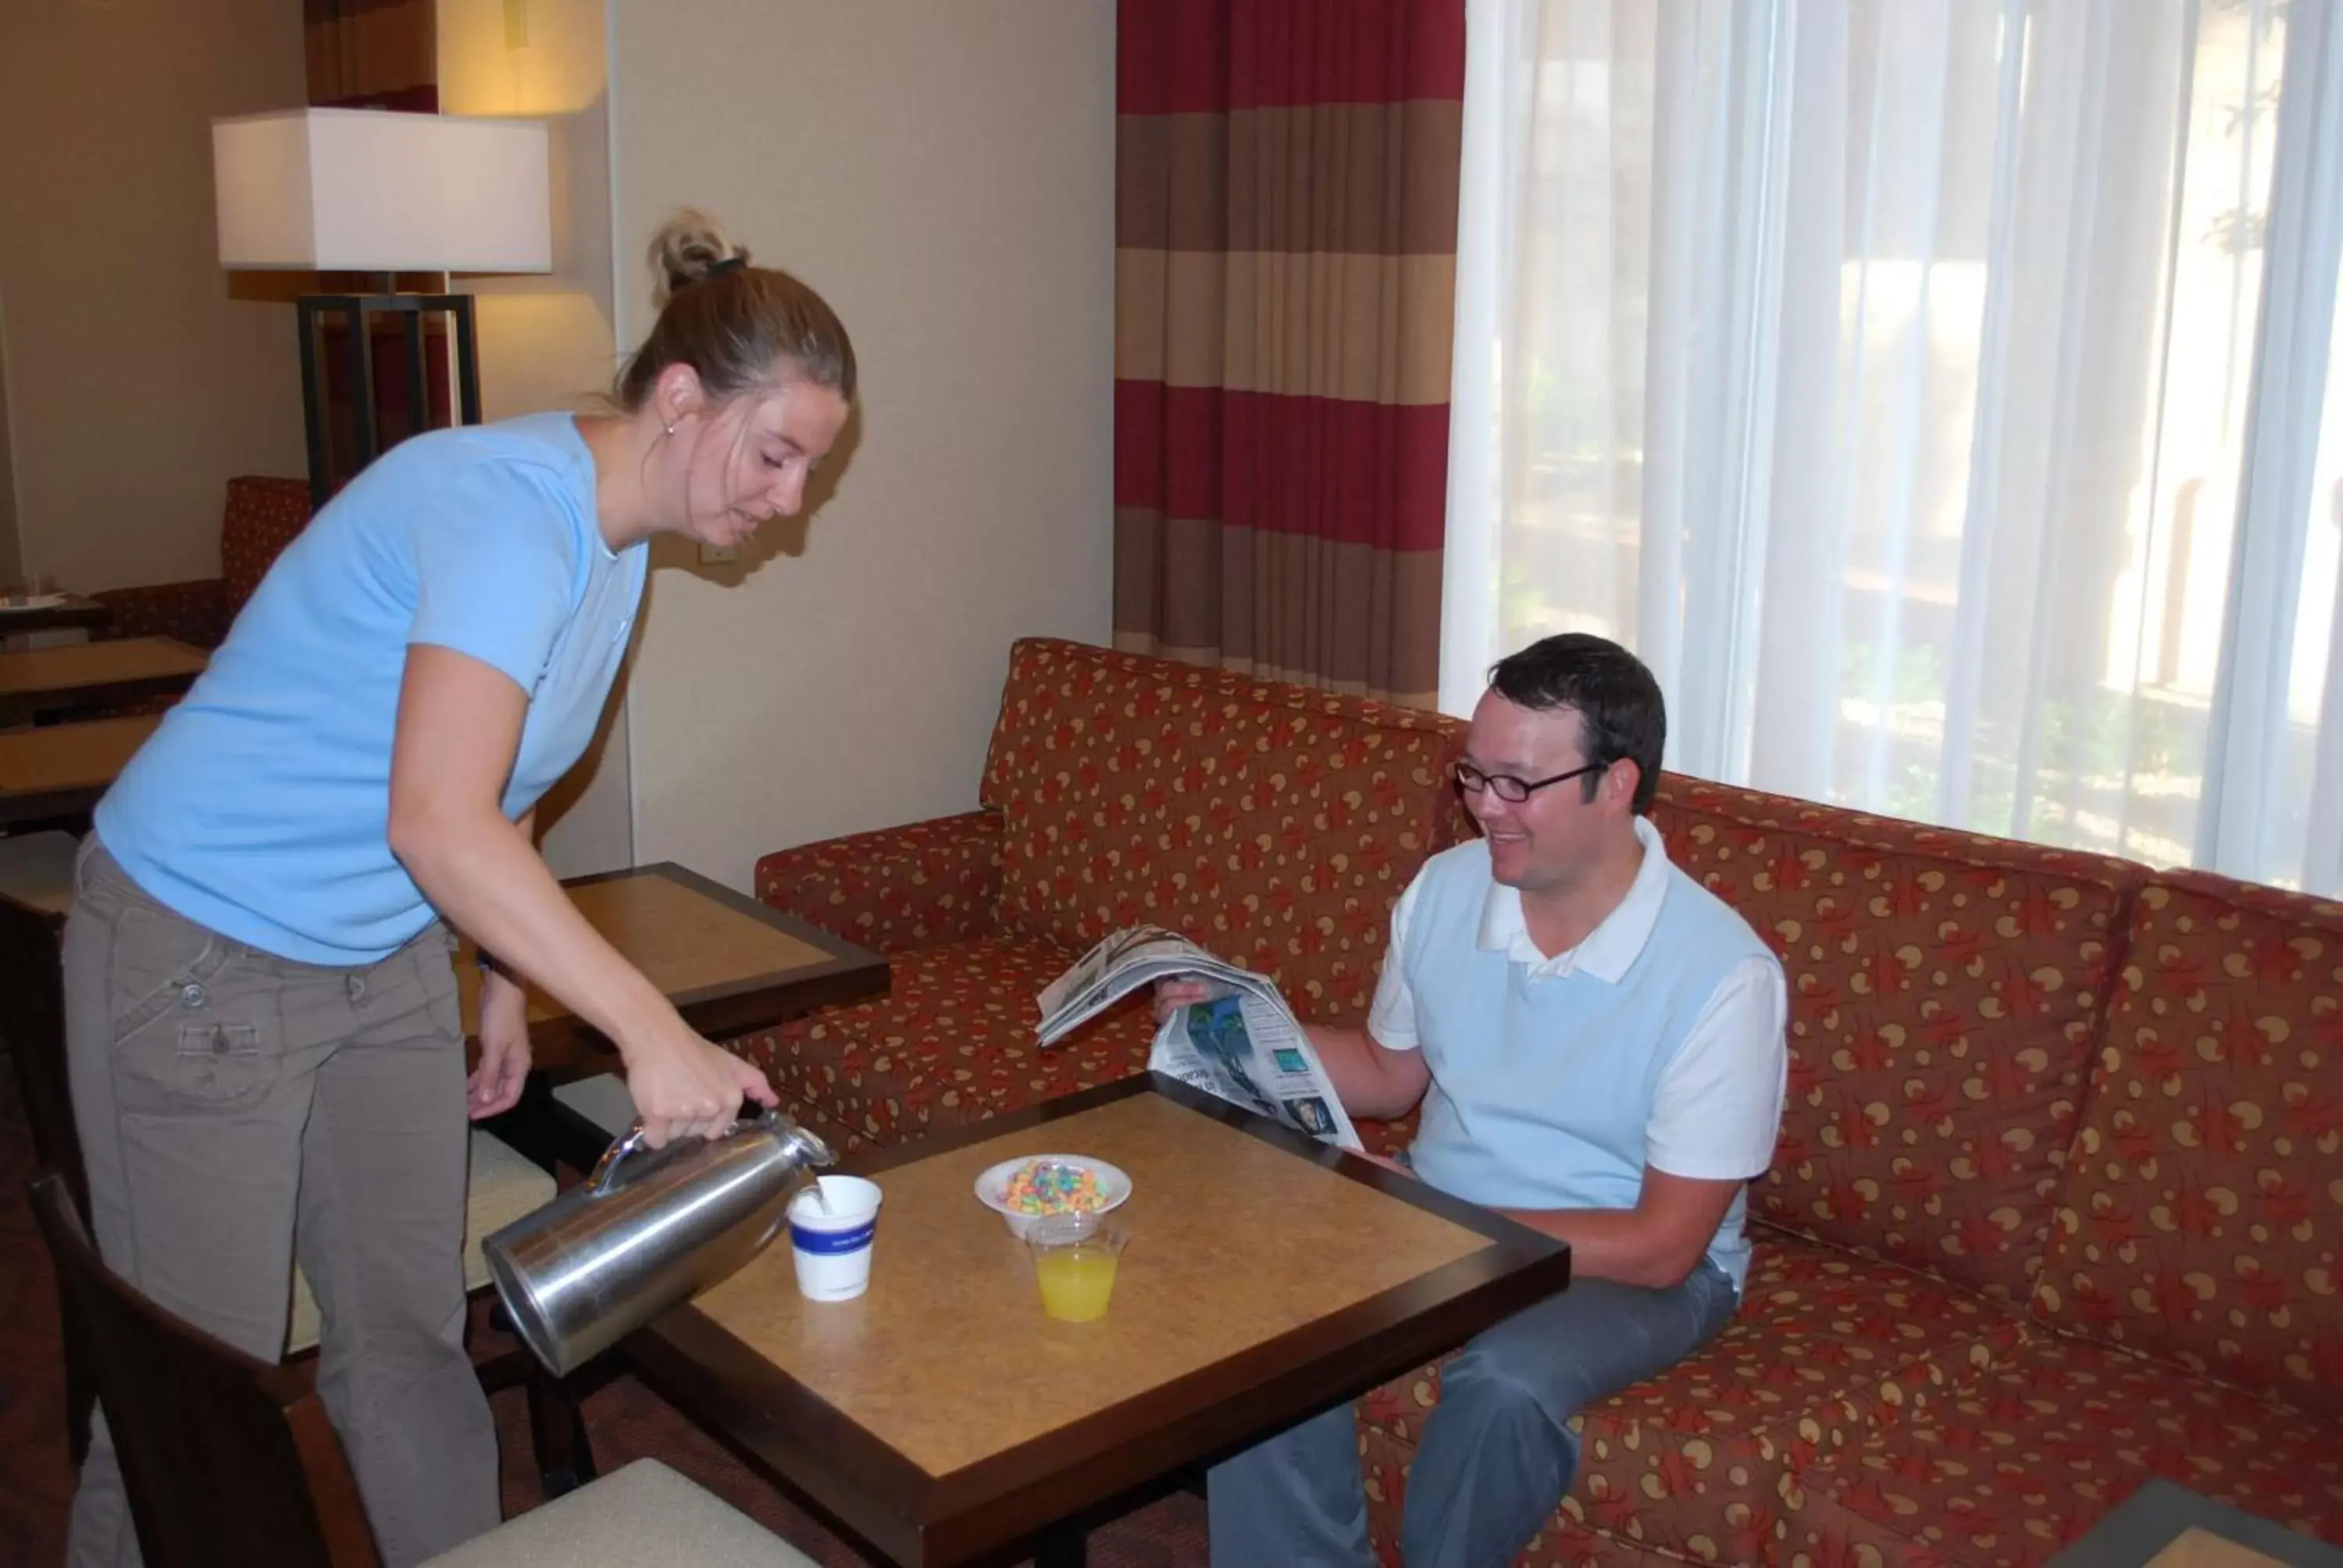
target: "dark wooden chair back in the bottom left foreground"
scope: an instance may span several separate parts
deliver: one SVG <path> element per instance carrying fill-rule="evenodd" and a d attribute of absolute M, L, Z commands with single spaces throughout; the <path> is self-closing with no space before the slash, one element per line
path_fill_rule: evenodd
<path fill-rule="evenodd" d="M 131 1289 L 56 1172 L 33 1181 L 33 1214 L 63 1313 L 89 1331 L 148 1568 L 380 1568 L 316 1390 Z"/>

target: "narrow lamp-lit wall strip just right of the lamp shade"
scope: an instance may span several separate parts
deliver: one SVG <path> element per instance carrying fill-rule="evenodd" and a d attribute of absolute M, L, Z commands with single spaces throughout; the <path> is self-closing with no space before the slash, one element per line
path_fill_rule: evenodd
<path fill-rule="evenodd" d="M 553 148 L 553 272 L 457 279 L 478 295 L 485 420 L 583 408 L 619 359 L 607 23 L 604 0 L 438 0 L 440 110 L 544 120 Z M 621 696 L 595 748 L 537 811 L 546 863 L 562 877 L 633 865 L 626 752 Z"/>

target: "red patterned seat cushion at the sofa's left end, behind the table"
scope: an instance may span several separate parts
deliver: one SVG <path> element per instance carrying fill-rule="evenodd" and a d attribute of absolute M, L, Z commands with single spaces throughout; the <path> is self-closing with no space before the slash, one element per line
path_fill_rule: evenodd
<path fill-rule="evenodd" d="M 886 996 L 733 1048 L 773 1076 L 783 1111 L 841 1151 L 902 1144 L 1146 1069 L 1155 1020 L 1143 996 L 1036 1045 L 1033 998 L 1078 956 L 1026 938 L 895 954 Z"/>

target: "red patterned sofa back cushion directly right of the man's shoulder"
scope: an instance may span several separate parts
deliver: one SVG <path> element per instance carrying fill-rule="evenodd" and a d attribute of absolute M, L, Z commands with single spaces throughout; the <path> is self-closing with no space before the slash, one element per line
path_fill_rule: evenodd
<path fill-rule="evenodd" d="M 1790 984 L 1750 1212 L 2024 1303 L 2144 872 L 1675 776 L 1652 818 Z"/>

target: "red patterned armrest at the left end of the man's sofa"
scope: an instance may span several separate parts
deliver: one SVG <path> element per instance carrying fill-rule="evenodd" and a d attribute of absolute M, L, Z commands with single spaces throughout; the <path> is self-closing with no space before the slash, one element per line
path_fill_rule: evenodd
<path fill-rule="evenodd" d="M 801 844 L 757 860 L 757 898 L 879 954 L 993 935 L 1000 813 Z"/>

